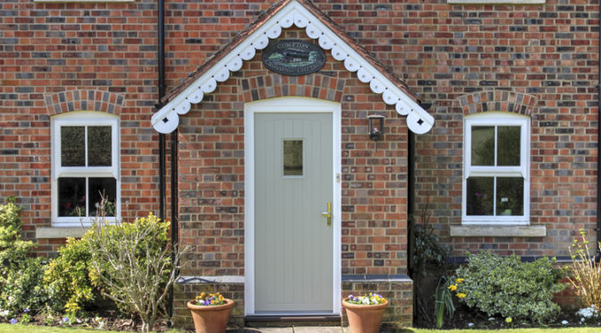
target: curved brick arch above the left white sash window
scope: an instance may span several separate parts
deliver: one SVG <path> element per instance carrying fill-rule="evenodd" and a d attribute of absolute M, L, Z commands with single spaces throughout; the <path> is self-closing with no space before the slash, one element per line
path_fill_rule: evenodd
<path fill-rule="evenodd" d="M 71 111 L 98 111 L 120 115 L 123 95 L 101 90 L 67 90 L 45 97 L 48 115 Z"/>

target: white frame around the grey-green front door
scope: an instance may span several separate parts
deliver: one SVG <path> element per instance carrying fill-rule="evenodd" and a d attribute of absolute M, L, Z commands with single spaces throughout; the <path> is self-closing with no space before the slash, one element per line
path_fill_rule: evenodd
<path fill-rule="evenodd" d="M 332 114 L 332 203 L 333 220 L 333 312 L 341 314 L 341 105 L 317 98 L 283 97 L 267 98 L 244 104 L 244 315 L 255 312 L 255 114 L 257 113 L 329 113 Z M 286 313 L 282 313 L 286 314 Z M 294 313 L 291 313 L 294 314 Z M 311 314 L 305 313 L 304 314 Z M 316 314 L 325 314 L 319 312 Z M 261 314 L 259 314 L 261 315 Z M 264 314 L 267 315 L 267 314 Z"/>

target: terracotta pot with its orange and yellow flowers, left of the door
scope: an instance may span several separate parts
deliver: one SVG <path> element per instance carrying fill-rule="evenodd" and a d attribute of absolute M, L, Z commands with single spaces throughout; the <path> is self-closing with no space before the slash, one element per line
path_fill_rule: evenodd
<path fill-rule="evenodd" d="M 233 304 L 233 300 L 219 293 L 202 293 L 186 305 L 192 312 L 196 333 L 223 333 Z"/>

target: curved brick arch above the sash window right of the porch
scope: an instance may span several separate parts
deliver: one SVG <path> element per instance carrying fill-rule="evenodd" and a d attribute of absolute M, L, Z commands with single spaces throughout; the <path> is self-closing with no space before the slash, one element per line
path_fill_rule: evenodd
<path fill-rule="evenodd" d="M 532 115 L 537 107 L 538 98 L 521 92 L 488 90 L 461 96 L 459 103 L 463 115 L 476 115 L 487 111 Z"/>

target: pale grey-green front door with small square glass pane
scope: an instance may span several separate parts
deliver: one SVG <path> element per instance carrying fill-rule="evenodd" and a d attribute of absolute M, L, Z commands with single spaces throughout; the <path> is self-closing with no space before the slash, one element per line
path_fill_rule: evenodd
<path fill-rule="evenodd" d="M 255 311 L 333 312 L 331 113 L 255 114 Z"/>

